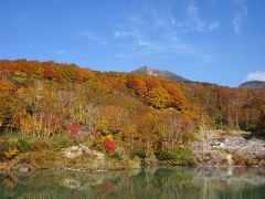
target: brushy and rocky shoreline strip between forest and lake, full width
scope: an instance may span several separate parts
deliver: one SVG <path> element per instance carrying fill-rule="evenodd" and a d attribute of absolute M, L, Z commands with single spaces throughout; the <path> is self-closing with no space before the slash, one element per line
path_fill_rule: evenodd
<path fill-rule="evenodd" d="M 49 169 L 97 172 L 146 167 L 264 168 L 265 140 L 245 138 L 246 135 L 245 132 L 204 132 L 204 135 L 200 135 L 200 138 L 190 143 L 187 148 L 180 148 L 180 154 L 170 154 L 170 156 L 177 155 L 178 157 L 170 157 L 177 159 L 161 159 L 168 155 L 165 153 L 159 154 L 160 159 L 159 156 L 153 155 L 145 158 L 138 156 L 117 158 L 108 151 L 91 148 L 85 143 L 78 145 L 70 143 L 68 147 L 63 148 L 43 145 L 41 149 L 29 151 L 12 149 L 6 153 L 10 155 L 10 159 L 0 163 L 0 171 L 29 172 Z"/>

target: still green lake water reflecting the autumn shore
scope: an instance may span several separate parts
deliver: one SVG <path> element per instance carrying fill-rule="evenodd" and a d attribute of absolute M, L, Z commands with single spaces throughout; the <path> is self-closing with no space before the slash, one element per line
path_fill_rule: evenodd
<path fill-rule="evenodd" d="M 0 198 L 265 198 L 262 168 L 0 174 Z"/>

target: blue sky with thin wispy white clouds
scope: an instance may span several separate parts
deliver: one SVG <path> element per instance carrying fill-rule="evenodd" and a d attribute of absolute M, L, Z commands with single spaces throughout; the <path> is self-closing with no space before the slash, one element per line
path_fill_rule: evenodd
<path fill-rule="evenodd" d="M 0 59 L 265 81 L 264 0 L 0 0 Z"/>

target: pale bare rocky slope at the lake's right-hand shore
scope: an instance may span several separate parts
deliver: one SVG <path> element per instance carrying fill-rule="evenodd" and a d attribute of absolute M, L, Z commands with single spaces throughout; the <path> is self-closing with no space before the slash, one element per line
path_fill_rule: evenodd
<path fill-rule="evenodd" d="M 265 140 L 242 133 L 206 133 L 191 144 L 202 166 L 265 166 Z"/>

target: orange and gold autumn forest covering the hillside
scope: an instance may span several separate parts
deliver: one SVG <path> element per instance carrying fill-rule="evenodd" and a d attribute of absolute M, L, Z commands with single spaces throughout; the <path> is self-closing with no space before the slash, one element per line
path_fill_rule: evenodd
<path fill-rule="evenodd" d="M 1 60 L 0 102 L 2 133 L 55 136 L 76 124 L 84 135 L 119 135 L 130 148 L 170 148 L 193 139 L 199 128 L 265 125 L 265 90 L 180 84 L 52 61 Z"/>

